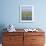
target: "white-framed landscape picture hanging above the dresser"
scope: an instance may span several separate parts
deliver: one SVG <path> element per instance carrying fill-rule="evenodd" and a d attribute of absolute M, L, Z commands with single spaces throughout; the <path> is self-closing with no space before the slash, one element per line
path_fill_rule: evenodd
<path fill-rule="evenodd" d="M 20 22 L 34 21 L 34 7 L 33 5 L 20 5 Z"/>

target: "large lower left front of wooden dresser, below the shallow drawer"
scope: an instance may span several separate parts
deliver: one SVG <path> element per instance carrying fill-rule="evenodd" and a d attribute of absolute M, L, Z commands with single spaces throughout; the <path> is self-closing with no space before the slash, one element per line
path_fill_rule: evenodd
<path fill-rule="evenodd" d="M 3 46 L 23 46 L 23 35 L 5 35 Z"/>

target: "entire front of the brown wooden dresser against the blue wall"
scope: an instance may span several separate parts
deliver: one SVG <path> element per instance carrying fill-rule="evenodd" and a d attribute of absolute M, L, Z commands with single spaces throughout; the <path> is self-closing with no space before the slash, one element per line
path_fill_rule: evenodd
<path fill-rule="evenodd" d="M 44 32 L 3 32 L 3 46 L 44 46 Z"/>

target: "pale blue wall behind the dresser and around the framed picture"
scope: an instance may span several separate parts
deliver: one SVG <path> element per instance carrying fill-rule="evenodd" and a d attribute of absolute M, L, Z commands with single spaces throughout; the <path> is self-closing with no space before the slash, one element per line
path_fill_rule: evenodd
<path fill-rule="evenodd" d="M 34 6 L 35 22 L 19 22 L 19 5 L 22 4 Z M 40 27 L 46 32 L 46 0 L 0 0 L 0 31 L 9 24 L 16 28 Z"/>

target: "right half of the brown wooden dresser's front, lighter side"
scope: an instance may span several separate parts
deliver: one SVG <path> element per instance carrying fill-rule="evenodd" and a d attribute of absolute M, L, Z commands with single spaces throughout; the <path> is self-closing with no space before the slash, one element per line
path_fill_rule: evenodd
<path fill-rule="evenodd" d="M 44 35 L 40 35 L 40 33 L 24 33 L 24 46 L 44 46 Z"/>

